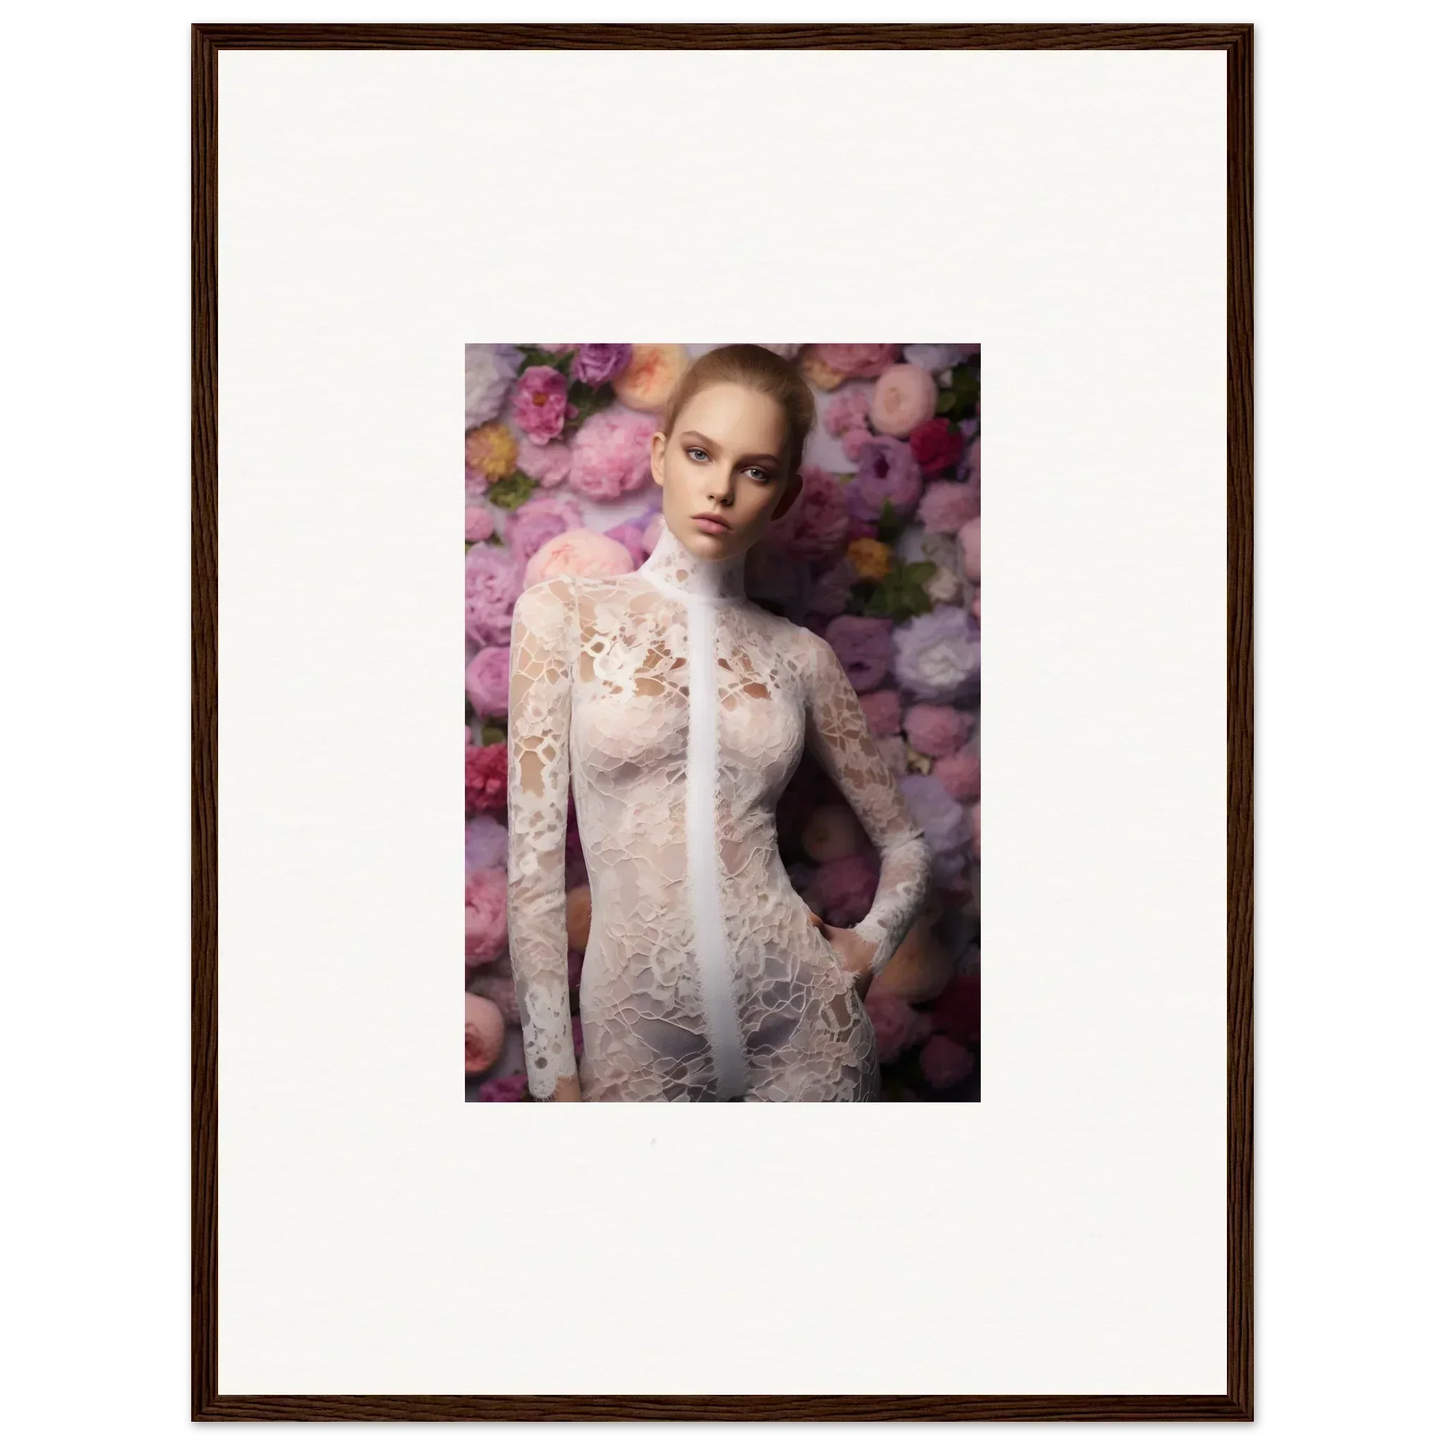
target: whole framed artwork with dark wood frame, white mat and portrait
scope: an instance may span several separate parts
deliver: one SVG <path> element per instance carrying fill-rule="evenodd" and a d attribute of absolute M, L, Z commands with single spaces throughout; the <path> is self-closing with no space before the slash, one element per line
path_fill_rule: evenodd
<path fill-rule="evenodd" d="M 182 71 L 188 1432 L 1259 1433 L 1263 25 Z"/>

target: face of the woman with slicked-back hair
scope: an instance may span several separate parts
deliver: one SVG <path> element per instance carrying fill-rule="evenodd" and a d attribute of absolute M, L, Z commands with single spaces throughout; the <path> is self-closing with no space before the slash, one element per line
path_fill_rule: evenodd
<path fill-rule="evenodd" d="M 734 381 L 698 392 L 670 436 L 652 436 L 652 475 L 678 540 L 704 559 L 746 552 L 798 494 L 786 447 L 788 418 L 770 396 Z"/>

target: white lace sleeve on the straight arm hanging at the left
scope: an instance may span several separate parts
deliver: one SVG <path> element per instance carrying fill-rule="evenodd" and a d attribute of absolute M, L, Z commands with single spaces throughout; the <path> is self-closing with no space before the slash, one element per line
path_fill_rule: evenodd
<path fill-rule="evenodd" d="M 512 614 L 507 704 L 507 933 L 527 1088 L 548 1100 L 575 1077 L 566 985 L 566 801 L 572 591 L 527 588 Z"/>

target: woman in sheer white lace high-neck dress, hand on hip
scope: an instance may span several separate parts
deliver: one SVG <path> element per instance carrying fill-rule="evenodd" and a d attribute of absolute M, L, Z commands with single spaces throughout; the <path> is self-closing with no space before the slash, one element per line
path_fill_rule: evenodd
<path fill-rule="evenodd" d="M 652 438 L 663 530 L 636 571 L 527 588 L 512 626 L 509 932 L 536 1100 L 876 1100 L 871 977 L 929 853 L 832 649 L 750 603 L 747 551 L 801 488 L 803 377 L 705 353 Z M 881 871 L 855 928 L 811 913 L 776 805 L 811 746 Z M 592 893 L 574 1052 L 568 785 Z"/>

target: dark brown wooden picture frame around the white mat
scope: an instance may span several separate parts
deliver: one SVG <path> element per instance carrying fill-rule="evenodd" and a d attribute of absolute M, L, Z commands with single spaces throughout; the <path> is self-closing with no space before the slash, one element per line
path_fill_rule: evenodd
<path fill-rule="evenodd" d="M 1228 1390 L 1218 1396 L 217 1393 L 217 56 L 223 49 L 1189 49 L 1228 56 Z M 1254 26 L 189 23 L 191 1418 L 1238 1420 L 1254 1418 Z"/>

